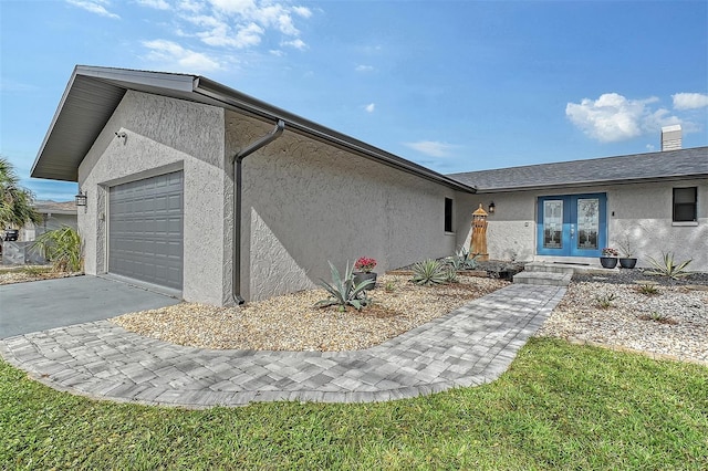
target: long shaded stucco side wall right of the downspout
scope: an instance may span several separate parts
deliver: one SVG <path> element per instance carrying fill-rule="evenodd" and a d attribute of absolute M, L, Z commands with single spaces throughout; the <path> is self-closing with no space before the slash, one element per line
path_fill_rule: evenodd
<path fill-rule="evenodd" d="M 227 153 L 270 132 L 227 112 Z M 444 232 L 454 190 L 288 130 L 243 161 L 242 295 L 309 289 L 360 257 L 376 271 L 454 252 Z M 248 228 L 248 229 L 247 229 Z"/>

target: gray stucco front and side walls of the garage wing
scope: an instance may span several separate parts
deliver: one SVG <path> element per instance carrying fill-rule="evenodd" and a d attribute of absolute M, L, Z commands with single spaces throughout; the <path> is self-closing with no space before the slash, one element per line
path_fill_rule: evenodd
<path fill-rule="evenodd" d="M 230 304 L 231 157 L 273 125 L 128 92 L 79 169 L 88 197 L 79 211 L 86 272 L 110 271 L 110 188 L 183 170 L 183 297 Z M 343 269 L 346 261 L 373 257 L 381 273 L 449 255 L 459 236 L 444 232 L 444 198 L 459 196 L 287 129 L 243 163 L 240 294 L 251 301 L 312 287 L 329 279 L 327 261 Z"/>

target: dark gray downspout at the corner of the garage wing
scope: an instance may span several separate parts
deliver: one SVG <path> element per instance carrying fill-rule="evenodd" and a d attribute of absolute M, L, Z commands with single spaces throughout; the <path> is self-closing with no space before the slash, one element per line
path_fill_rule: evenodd
<path fill-rule="evenodd" d="M 246 300 L 241 297 L 241 163 L 256 150 L 269 145 L 280 137 L 280 135 L 283 134 L 285 122 L 278 119 L 278 124 L 273 130 L 244 149 L 241 149 L 231 159 L 231 164 L 233 164 L 233 237 L 231 238 L 233 242 L 231 248 L 233 257 L 233 278 L 231 281 L 231 296 L 233 297 L 233 302 L 238 305 L 246 303 Z"/>

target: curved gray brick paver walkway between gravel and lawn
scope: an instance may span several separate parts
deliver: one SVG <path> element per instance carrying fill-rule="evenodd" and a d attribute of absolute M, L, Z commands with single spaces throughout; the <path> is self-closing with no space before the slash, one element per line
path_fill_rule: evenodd
<path fill-rule="evenodd" d="M 383 401 L 492 381 L 564 293 L 512 284 L 355 352 L 209 350 L 100 321 L 4 338 L 0 354 L 55 389 L 117 401 L 191 408 Z"/>

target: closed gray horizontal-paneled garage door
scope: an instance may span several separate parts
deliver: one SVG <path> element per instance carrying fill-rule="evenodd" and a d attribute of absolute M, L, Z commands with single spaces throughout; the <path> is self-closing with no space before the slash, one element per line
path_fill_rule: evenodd
<path fill-rule="evenodd" d="M 111 188 L 108 272 L 181 290 L 183 172 Z"/>

